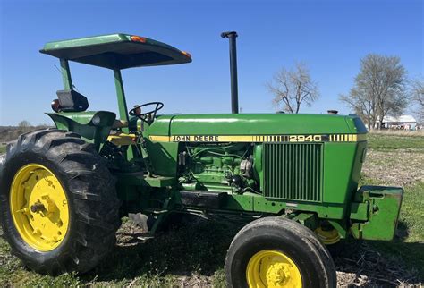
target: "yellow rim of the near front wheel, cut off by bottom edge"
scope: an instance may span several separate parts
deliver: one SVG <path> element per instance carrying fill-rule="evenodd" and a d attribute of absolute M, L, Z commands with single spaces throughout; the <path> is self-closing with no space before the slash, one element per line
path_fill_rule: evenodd
<path fill-rule="evenodd" d="M 293 260 L 278 250 L 261 250 L 246 268 L 249 287 L 301 287 L 301 271 Z"/>

